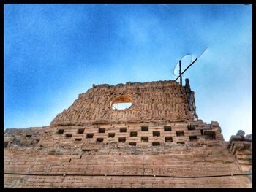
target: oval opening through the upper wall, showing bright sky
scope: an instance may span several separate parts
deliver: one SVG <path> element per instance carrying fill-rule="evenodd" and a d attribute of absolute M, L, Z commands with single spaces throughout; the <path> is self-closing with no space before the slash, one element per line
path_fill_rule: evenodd
<path fill-rule="evenodd" d="M 112 110 L 128 110 L 133 105 L 133 99 L 129 96 L 118 96 L 110 103 Z"/>

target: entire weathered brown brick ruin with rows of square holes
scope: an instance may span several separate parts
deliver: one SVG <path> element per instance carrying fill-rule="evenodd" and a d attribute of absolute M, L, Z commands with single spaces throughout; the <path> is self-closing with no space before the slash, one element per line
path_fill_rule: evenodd
<path fill-rule="evenodd" d="M 251 188 L 251 135 L 225 142 L 186 82 L 93 85 L 50 126 L 5 130 L 4 187 Z"/>

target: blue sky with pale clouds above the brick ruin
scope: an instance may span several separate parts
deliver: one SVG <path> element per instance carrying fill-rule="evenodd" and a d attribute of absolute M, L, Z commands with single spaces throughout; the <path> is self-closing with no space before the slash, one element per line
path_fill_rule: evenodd
<path fill-rule="evenodd" d="M 4 128 L 48 126 L 92 84 L 175 80 L 206 47 L 183 76 L 197 115 L 252 133 L 252 5 L 5 4 Z"/>

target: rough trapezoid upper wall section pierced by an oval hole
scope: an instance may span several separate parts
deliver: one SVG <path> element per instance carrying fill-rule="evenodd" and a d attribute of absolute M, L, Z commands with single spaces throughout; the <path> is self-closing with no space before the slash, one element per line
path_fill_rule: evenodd
<path fill-rule="evenodd" d="M 112 110 L 111 101 L 129 96 L 129 110 Z M 119 85 L 97 85 L 78 99 L 51 123 L 51 126 L 92 122 L 146 122 L 155 120 L 192 120 L 186 89 L 178 82 L 127 82 Z"/>

